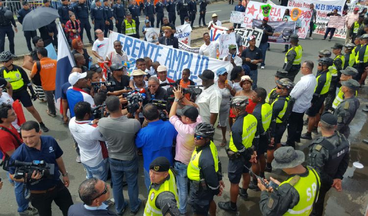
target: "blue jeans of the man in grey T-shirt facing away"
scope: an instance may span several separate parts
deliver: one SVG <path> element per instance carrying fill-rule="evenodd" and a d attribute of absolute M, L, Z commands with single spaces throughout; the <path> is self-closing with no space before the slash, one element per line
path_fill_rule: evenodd
<path fill-rule="evenodd" d="M 118 214 L 121 213 L 127 205 L 127 202 L 124 201 L 122 187 L 124 174 L 126 175 L 128 183 L 131 211 L 136 212 L 141 204 L 141 200 L 138 199 L 138 159 L 121 161 L 109 158 L 108 162 L 111 170 L 112 192 L 114 195 L 116 212 Z"/>

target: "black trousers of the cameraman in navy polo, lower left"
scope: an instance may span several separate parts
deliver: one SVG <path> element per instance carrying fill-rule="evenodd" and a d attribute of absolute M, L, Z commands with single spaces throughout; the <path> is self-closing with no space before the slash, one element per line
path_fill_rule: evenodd
<path fill-rule="evenodd" d="M 54 201 L 63 216 L 68 216 L 68 210 L 73 205 L 69 190 L 60 181 L 55 189 L 46 193 L 31 193 L 31 204 L 37 209 L 39 216 L 51 216 L 51 204 Z"/>

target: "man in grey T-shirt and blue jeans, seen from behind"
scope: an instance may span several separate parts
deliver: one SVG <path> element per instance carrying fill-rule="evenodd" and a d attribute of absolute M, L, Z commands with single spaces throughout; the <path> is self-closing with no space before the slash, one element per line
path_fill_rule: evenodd
<path fill-rule="evenodd" d="M 125 175 L 128 183 L 129 206 L 131 214 L 135 215 L 141 204 L 138 198 L 138 159 L 134 142 L 134 137 L 141 128 L 140 123 L 122 114 L 122 105 L 118 97 L 109 96 L 105 104 L 110 116 L 101 118 L 97 128 L 107 140 L 116 212 L 122 215 L 127 207 L 123 195 L 123 176 Z"/>

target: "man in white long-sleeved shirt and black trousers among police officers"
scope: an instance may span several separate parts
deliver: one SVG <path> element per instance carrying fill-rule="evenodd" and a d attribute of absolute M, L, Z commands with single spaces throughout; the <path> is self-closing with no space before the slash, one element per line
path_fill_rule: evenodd
<path fill-rule="evenodd" d="M 295 99 L 292 112 L 288 120 L 288 140 L 287 145 L 295 148 L 295 141 L 300 142 L 300 135 L 303 130 L 304 112 L 311 107 L 311 101 L 317 81 L 313 75 L 313 61 L 304 61 L 301 73 L 304 75 L 296 83 L 290 92 L 290 96 Z"/>

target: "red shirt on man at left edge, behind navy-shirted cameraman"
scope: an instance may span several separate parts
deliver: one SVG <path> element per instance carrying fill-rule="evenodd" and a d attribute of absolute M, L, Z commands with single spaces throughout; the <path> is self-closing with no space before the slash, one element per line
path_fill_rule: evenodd
<path fill-rule="evenodd" d="M 10 125 L 11 129 L 7 128 L 9 131 L 11 131 L 14 135 L 16 135 L 22 142 L 21 136 L 18 134 L 17 129 L 13 127 L 13 125 Z M 4 155 L 2 157 L 2 160 L 4 160 L 6 152 L 15 150 L 19 147 L 18 141 L 14 138 L 13 135 L 9 134 L 8 132 L 4 130 L 0 130 L 0 150 L 2 154 Z"/>

